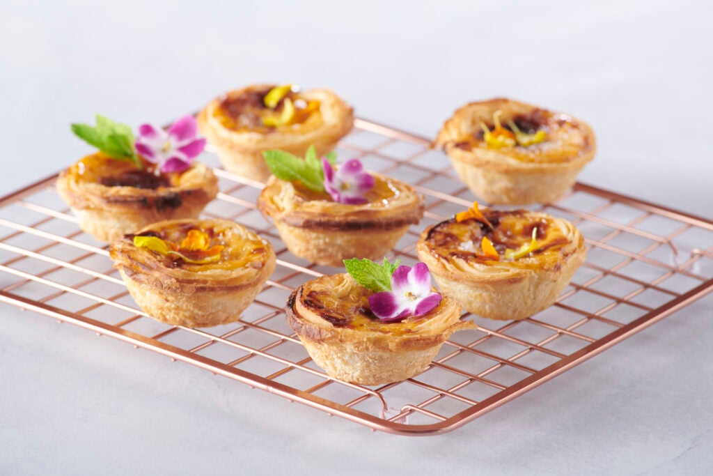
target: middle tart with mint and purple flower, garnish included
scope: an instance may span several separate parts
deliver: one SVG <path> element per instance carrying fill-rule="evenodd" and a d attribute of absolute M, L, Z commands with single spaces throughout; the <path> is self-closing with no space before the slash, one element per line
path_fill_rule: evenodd
<path fill-rule="evenodd" d="M 348 258 L 382 258 L 409 226 L 424 215 L 424 198 L 411 186 L 364 171 L 359 159 L 335 166 L 314 147 L 304 159 L 265 151 L 275 175 L 260 193 L 257 208 L 275 222 L 294 255 L 320 265 L 341 266 Z"/>

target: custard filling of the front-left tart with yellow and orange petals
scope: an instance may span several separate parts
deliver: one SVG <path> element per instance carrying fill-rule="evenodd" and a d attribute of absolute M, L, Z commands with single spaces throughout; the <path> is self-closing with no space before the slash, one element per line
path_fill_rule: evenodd
<path fill-rule="evenodd" d="M 170 228 L 161 228 L 155 231 L 145 231 L 139 233 L 137 236 L 155 236 L 156 238 L 171 243 L 181 243 L 191 230 L 200 230 L 207 234 L 209 241 L 204 248 L 210 249 L 215 245 L 221 245 L 223 247 L 220 251 L 220 258 L 215 263 L 187 263 L 175 255 L 161 255 L 160 253 L 147 250 L 148 253 L 155 255 L 156 259 L 160 260 L 167 268 L 183 268 L 197 273 L 205 270 L 233 270 L 245 268 L 246 266 L 261 269 L 265 266 L 265 260 L 269 254 L 265 243 L 262 240 L 245 238 L 230 228 L 216 228 L 212 226 L 198 228 L 191 223 L 186 223 Z M 133 236 L 129 237 L 133 239 Z M 188 253 L 183 251 L 183 253 L 190 258 L 200 259 L 202 256 L 200 250 Z"/>

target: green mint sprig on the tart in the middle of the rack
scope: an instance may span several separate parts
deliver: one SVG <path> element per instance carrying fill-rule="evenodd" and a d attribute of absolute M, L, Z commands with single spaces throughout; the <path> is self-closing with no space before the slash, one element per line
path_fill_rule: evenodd
<path fill-rule="evenodd" d="M 314 146 L 309 146 L 304 159 L 280 150 L 263 151 L 262 156 L 275 177 L 288 182 L 300 182 L 311 191 L 324 191 L 322 161 L 317 158 Z M 330 152 L 325 157 L 334 166 L 337 154 Z"/>

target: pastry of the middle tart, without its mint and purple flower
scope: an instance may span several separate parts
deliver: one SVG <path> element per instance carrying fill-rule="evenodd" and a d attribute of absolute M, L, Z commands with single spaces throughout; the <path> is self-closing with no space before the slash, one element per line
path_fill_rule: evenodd
<path fill-rule="evenodd" d="M 272 176 L 257 208 L 272 218 L 287 249 L 300 258 L 329 266 L 342 266 L 349 258 L 376 260 L 421 221 L 424 198 L 406 183 L 371 176 L 374 186 L 364 194 L 366 203 L 356 205 Z"/>

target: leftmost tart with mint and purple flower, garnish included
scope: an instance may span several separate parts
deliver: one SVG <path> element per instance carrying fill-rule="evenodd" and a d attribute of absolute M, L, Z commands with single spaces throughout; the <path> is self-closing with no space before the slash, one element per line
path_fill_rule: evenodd
<path fill-rule="evenodd" d="M 111 242 L 156 221 L 198 218 L 217 195 L 215 174 L 194 161 L 205 139 L 191 116 L 167 131 L 143 124 L 138 138 L 99 115 L 96 126 L 72 124 L 72 131 L 99 151 L 60 173 L 57 191 L 97 240 Z"/>

